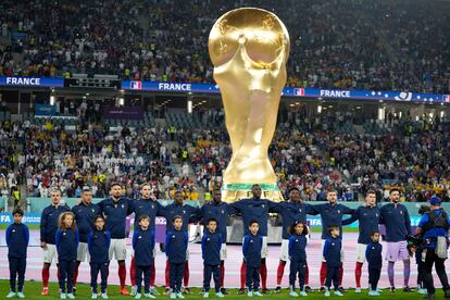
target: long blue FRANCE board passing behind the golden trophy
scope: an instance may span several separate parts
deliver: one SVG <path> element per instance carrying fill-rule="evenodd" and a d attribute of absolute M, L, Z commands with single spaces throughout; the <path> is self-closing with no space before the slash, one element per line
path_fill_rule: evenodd
<path fill-rule="evenodd" d="M 122 80 L 124 90 L 147 91 L 171 91 L 171 92 L 203 92 L 218 93 L 217 85 L 188 84 L 188 83 L 163 83 L 163 82 L 136 82 Z M 283 89 L 285 97 L 301 98 L 330 98 L 330 99 L 360 99 L 360 100 L 384 100 L 401 102 L 450 102 L 450 95 L 418 93 L 410 91 L 374 91 L 374 90 L 341 90 L 320 88 L 293 88 Z"/>

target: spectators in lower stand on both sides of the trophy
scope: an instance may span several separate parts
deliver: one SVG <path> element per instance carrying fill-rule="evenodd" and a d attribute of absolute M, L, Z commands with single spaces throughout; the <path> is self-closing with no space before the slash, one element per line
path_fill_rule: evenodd
<path fill-rule="evenodd" d="M 202 117 L 216 120 L 220 111 Z M 367 121 L 373 123 L 374 121 Z M 220 125 L 220 123 L 217 123 Z M 376 130 L 377 126 L 384 130 Z M 283 191 L 296 186 L 303 199 L 323 200 L 326 190 L 336 188 L 340 199 L 358 200 L 368 189 L 378 199 L 398 187 L 405 201 L 424 201 L 438 195 L 450 199 L 448 123 L 435 118 L 412 122 L 388 117 L 384 124 L 354 129 L 353 115 L 323 113 L 308 117 L 304 111 L 280 114 L 274 140 L 268 149 Z M 295 128 L 292 130 L 292 128 Z M 96 197 L 108 192 L 111 182 L 124 185 L 126 195 L 137 197 L 139 185 L 152 184 L 157 198 L 173 198 L 176 189 L 185 199 L 199 199 L 198 187 L 207 192 L 220 186 L 232 155 L 224 126 L 178 128 L 173 137 L 168 128 L 135 128 L 120 132 L 84 123 L 76 132 L 66 132 L 47 123 L 38 127 L 3 123 L 0 130 L 3 195 L 26 178 L 29 196 L 46 197 L 52 187 L 65 196 L 78 197 L 84 185 L 92 186 Z M 17 154 L 5 143 L 23 145 Z M 170 149 L 168 140 L 175 140 Z M 179 163 L 178 172 L 173 163 Z M 193 167 L 197 182 L 189 179 Z"/>

